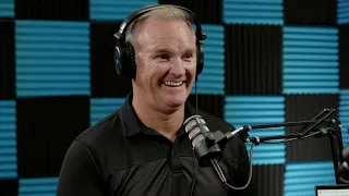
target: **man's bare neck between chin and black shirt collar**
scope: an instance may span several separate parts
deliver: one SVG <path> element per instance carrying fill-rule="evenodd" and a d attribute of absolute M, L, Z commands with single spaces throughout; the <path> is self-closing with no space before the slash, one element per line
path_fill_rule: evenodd
<path fill-rule="evenodd" d="M 173 112 L 164 112 L 147 105 L 142 96 L 133 96 L 132 106 L 144 125 L 174 142 L 177 132 L 183 124 L 184 106 Z"/>

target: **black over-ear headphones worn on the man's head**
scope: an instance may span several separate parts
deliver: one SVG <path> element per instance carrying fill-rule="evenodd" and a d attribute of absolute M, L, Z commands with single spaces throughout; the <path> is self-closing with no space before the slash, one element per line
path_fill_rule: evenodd
<path fill-rule="evenodd" d="M 129 17 L 127 17 L 120 25 L 119 32 L 113 36 L 116 38 L 116 48 L 115 48 L 115 65 L 119 76 L 127 78 L 135 78 L 136 73 L 136 64 L 134 57 L 134 48 L 131 42 L 125 41 L 125 32 L 128 27 L 132 24 L 134 20 L 140 17 L 141 15 L 155 10 L 161 9 L 165 7 L 169 7 L 168 4 L 156 4 L 151 7 L 145 7 L 141 10 L 133 12 Z M 196 15 L 186 8 L 179 5 L 171 5 L 178 9 L 181 9 L 189 14 L 191 14 L 194 19 L 194 23 L 196 26 L 195 35 L 196 35 L 196 77 L 204 69 L 204 46 L 203 40 L 206 39 L 206 34 L 203 32 L 201 24 L 196 20 Z"/>

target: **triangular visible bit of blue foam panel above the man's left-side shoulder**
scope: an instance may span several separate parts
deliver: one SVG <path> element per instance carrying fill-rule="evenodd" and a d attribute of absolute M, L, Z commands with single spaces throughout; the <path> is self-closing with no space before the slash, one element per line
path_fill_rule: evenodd
<path fill-rule="evenodd" d="M 91 125 L 115 112 L 124 101 L 124 98 L 92 98 Z"/>

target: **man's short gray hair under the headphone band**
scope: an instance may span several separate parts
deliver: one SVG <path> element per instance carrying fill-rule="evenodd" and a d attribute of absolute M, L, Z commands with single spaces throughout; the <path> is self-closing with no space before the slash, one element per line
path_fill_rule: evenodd
<path fill-rule="evenodd" d="M 184 21 L 188 26 L 192 29 L 193 34 L 195 34 L 193 28 L 193 22 L 195 19 L 193 19 L 193 15 L 188 13 L 184 10 L 181 10 L 176 7 L 166 5 L 160 9 L 152 10 L 143 15 L 141 15 L 139 19 L 134 20 L 130 26 L 127 29 L 125 34 L 125 41 L 130 41 L 135 47 L 135 32 L 137 27 L 147 19 L 156 19 L 156 20 L 164 20 L 164 21 L 172 21 L 172 20 L 180 20 Z"/>

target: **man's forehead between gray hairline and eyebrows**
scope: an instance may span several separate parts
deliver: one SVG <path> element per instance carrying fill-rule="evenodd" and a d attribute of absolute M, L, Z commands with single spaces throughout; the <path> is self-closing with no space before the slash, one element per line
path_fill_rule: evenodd
<path fill-rule="evenodd" d="M 195 34 L 184 21 L 148 19 L 137 29 L 137 42 L 152 46 L 161 42 L 195 45 Z"/>

